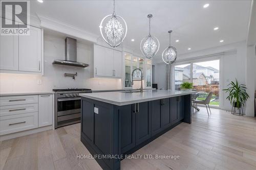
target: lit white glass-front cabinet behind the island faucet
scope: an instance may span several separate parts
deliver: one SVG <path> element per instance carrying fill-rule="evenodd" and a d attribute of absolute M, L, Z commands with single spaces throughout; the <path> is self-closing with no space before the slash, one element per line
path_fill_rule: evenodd
<path fill-rule="evenodd" d="M 124 59 L 124 78 L 123 87 L 132 88 L 132 76 L 134 80 L 141 79 L 141 72 L 139 70 L 132 72 L 139 68 L 143 74 L 143 88 L 152 87 L 152 60 L 135 56 L 130 53 L 123 52 Z"/>

